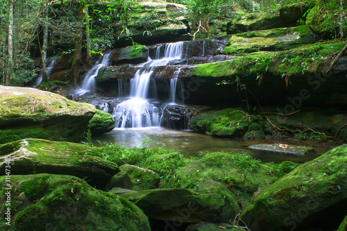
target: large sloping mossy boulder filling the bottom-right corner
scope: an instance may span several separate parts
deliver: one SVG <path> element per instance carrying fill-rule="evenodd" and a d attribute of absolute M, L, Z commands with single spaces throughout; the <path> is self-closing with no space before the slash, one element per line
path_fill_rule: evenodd
<path fill-rule="evenodd" d="M 335 230 L 347 214 L 346 182 L 344 144 L 301 164 L 262 191 L 242 213 L 242 221 L 255 231 L 324 227 Z"/>

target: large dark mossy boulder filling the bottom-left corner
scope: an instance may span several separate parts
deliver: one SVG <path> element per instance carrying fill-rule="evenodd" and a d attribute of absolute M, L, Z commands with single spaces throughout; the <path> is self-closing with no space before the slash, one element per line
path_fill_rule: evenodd
<path fill-rule="evenodd" d="M 11 168 L 12 169 L 12 168 Z M 143 212 L 124 198 L 90 187 L 73 176 L 0 177 L 0 230 L 151 230 Z M 6 218 L 8 216 L 6 215 Z M 10 222 L 10 226 L 6 222 Z"/>

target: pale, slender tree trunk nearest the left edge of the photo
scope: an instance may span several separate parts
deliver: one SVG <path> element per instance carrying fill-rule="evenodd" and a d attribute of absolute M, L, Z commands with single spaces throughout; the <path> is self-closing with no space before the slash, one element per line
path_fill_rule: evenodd
<path fill-rule="evenodd" d="M 8 59 L 5 74 L 5 85 L 11 85 L 11 71 L 13 62 L 13 0 L 8 0 Z"/>

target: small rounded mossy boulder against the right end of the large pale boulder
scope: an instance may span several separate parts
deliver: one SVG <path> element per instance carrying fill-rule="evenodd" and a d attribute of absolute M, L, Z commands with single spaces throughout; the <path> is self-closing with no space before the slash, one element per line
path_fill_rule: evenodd
<path fill-rule="evenodd" d="M 89 121 L 89 128 L 92 135 L 100 135 L 105 132 L 110 132 L 116 127 L 115 118 L 112 114 L 102 110 L 96 110 L 94 117 Z"/>

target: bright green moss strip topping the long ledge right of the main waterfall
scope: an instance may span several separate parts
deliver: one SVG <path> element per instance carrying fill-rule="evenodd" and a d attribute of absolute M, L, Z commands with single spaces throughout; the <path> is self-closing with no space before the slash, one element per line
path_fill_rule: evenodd
<path fill-rule="evenodd" d="M 343 42 L 305 44 L 289 51 L 255 52 L 232 60 L 198 65 L 190 69 L 192 75 L 226 77 L 234 81 L 238 76 L 271 74 L 273 76 L 302 76 L 324 71 L 328 55 L 340 51 Z"/>

